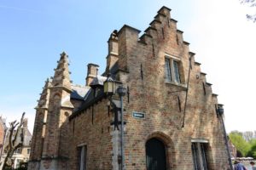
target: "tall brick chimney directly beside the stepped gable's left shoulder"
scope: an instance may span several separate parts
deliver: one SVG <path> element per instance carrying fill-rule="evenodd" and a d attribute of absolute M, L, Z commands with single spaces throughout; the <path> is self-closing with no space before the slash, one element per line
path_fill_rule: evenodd
<path fill-rule="evenodd" d="M 118 31 L 114 30 L 108 39 L 108 56 L 107 56 L 107 71 L 116 63 L 119 59 L 119 43 L 118 43 Z"/>

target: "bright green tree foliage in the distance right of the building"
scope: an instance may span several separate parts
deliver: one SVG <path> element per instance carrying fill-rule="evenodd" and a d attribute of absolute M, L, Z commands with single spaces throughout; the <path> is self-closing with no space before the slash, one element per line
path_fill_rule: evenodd
<path fill-rule="evenodd" d="M 236 146 L 238 156 L 250 156 L 256 159 L 256 139 L 251 135 L 248 138 L 247 134 L 248 132 L 232 131 L 229 138 L 232 144 Z"/>

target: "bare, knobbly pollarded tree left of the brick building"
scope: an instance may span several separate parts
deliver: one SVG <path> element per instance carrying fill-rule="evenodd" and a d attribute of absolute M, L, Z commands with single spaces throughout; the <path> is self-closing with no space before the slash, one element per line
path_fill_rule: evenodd
<path fill-rule="evenodd" d="M 25 112 L 22 114 L 20 118 L 20 122 L 14 121 L 9 122 L 9 138 L 8 138 L 8 145 L 6 146 L 5 150 L 7 150 L 7 155 L 3 161 L 3 170 L 6 167 L 11 167 L 12 165 L 12 156 L 15 153 L 15 150 L 22 146 L 23 136 L 22 136 L 22 127 L 24 124 L 24 116 Z M 18 140 L 18 135 L 20 135 L 21 139 Z"/>

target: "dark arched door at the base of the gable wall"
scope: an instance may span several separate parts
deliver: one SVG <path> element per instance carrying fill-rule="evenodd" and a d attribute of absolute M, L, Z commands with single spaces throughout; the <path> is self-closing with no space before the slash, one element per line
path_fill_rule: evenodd
<path fill-rule="evenodd" d="M 146 143 L 147 170 L 166 170 L 166 147 L 159 139 Z"/>

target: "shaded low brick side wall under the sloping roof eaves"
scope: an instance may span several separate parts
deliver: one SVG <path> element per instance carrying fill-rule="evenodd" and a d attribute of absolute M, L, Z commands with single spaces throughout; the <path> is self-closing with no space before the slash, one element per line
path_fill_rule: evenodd
<path fill-rule="evenodd" d="M 87 169 L 112 169 L 111 120 L 112 116 L 108 116 L 107 99 L 103 99 L 69 122 L 70 169 L 78 166 L 79 144 L 87 145 Z"/>

